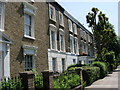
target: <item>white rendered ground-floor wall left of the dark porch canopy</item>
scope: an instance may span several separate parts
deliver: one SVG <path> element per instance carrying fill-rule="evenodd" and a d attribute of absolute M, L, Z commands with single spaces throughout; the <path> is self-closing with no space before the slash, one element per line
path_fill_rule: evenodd
<path fill-rule="evenodd" d="M 52 69 L 52 58 L 56 58 L 57 60 L 57 71 L 58 72 L 62 72 L 62 59 L 65 59 L 65 69 L 67 69 L 67 67 L 73 63 L 73 59 L 76 60 L 76 63 L 78 62 L 78 57 L 75 55 L 70 55 L 70 54 L 66 54 L 66 53 L 60 53 L 57 51 L 48 51 L 48 65 L 49 65 L 49 70 L 53 70 Z"/>

